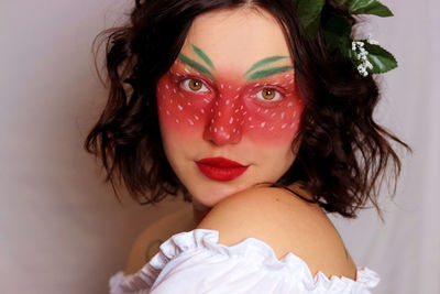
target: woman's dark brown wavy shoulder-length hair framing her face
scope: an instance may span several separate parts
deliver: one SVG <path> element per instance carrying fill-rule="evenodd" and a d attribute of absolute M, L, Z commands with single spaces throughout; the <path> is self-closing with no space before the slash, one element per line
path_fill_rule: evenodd
<path fill-rule="evenodd" d="M 340 52 L 329 52 L 322 28 L 317 39 L 308 37 L 292 0 L 135 0 L 129 24 L 98 35 L 96 42 L 105 37 L 107 45 L 110 95 L 85 148 L 101 159 L 106 181 L 117 196 L 116 186 L 122 181 L 141 204 L 157 203 L 167 195 L 183 195 L 191 202 L 164 154 L 156 84 L 177 58 L 196 17 L 244 4 L 263 8 L 278 19 L 306 102 L 296 139 L 300 140 L 297 157 L 274 185 L 299 182 L 314 202 L 344 217 L 354 218 L 369 200 L 381 213 L 377 194 L 385 172 L 391 166 L 394 181 L 400 172 L 400 161 L 388 141 L 409 148 L 374 121 L 380 100 L 374 78 L 361 76 Z M 359 21 L 344 6 L 328 0 L 321 23 L 332 15 L 353 25 Z"/>

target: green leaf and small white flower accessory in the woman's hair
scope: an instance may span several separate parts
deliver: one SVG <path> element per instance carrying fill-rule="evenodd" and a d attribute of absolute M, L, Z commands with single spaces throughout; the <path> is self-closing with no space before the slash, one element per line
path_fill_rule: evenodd
<path fill-rule="evenodd" d="M 293 0 L 298 4 L 298 19 L 305 28 L 307 34 L 315 39 L 321 22 L 322 9 L 326 0 Z M 349 8 L 353 14 L 374 14 L 386 18 L 393 17 L 393 12 L 377 0 L 334 0 Z M 332 52 L 340 50 L 341 54 L 351 59 L 358 72 L 362 76 L 369 74 L 382 74 L 397 67 L 397 61 L 386 50 L 381 47 L 376 41 L 352 40 L 352 25 L 343 17 L 331 17 L 323 24 L 323 35 L 327 48 Z"/>

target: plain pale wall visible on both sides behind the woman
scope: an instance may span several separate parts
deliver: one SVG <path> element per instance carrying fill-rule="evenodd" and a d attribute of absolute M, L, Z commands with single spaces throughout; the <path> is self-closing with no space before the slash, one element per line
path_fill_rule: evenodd
<path fill-rule="evenodd" d="M 378 118 L 409 142 L 395 203 L 336 220 L 375 293 L 440 293 L 440 2 L 383 1 L 369 31 L 399 68 L 384 75 Z M 131 0 L 0 1 L 0 293 L 107 293 L 134 236 L 179 203 L 120 206 L 82 149 L 106 95 L 94 36 Z M 383 193 L 386 197 L 386 192 Z"/>

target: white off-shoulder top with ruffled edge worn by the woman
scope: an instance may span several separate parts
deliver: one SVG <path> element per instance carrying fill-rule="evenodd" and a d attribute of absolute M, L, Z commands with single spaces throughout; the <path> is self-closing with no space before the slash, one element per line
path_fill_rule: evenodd
<path fill-rule="evenodd" d="M 111 294 L 240 294 L 240 293 L 371 293 L 377 273 L 358 268 L 356 281 L 315 276 L 294 253 L 278 260 L 264 241 L 248 238 L 228 247 L 219 232 L 195 229 L 172 236 L 138 273 L 118 272 L 110 279 Z"/>

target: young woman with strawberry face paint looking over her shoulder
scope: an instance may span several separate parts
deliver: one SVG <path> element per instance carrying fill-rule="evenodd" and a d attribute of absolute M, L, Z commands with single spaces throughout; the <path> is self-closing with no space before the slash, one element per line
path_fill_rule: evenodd
<path fill-rule="evenodd" d="M 381 66 L 369 45 L 345 46 L 353 1 L 306 2 L 135 1 L 131 23 L 111 32 L 109 101 L 86 146 L 140 203 L 183 195 L 194 208 L 166 222 L 170 238 L 142 269 L 111 279 L 111 293 L 370 293 L 378 283 L 326 213 L 375 205 L 385 167 L 400 167 L 386 139 L 404 143 L 372 118 Z"/>

